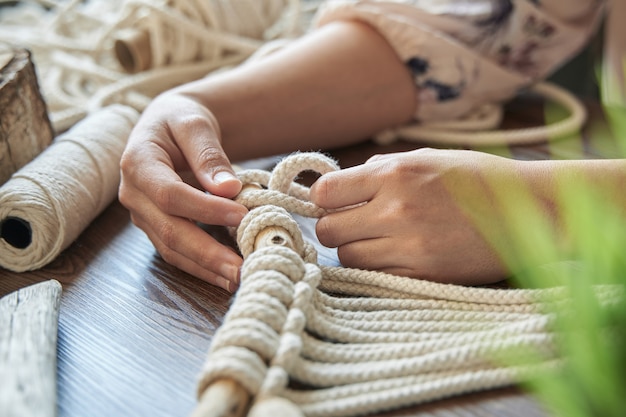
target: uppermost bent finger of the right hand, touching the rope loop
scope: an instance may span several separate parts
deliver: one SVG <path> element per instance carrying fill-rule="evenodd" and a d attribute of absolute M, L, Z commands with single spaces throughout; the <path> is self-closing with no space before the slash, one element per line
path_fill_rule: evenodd
<path fill-rule="evenodd" d="M 311 201 L 327 210 L 370 201 L 380 189 L 375 171 L 375 166 L 359 165 L 324 174 L 311 186 Z"/>

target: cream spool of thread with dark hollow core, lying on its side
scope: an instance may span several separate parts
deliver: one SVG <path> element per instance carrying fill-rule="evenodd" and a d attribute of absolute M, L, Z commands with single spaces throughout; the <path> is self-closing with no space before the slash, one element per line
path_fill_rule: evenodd
<path fill-rule="evenodd" d="M 122 105 L 93 113 L 0 187 L 0 266 L 45 266 L 116 198 L 120 158 L 138 117 Z"/>

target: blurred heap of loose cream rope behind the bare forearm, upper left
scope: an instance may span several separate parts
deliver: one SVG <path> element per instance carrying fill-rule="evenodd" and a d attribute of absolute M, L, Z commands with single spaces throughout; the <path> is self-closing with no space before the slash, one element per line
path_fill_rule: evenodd
<path fill-rule="evenodd" d="M 61 132 L 110 104 L 142 111 L 164 90 L 302 34 L 316 6 L 305 3 L 23 0 L 0 7 L 0 40 L 33 53 L 52 125 Z"/>

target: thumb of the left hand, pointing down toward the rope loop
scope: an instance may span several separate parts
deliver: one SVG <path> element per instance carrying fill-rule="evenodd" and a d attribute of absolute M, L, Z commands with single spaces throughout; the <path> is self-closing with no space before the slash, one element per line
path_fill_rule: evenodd
<path fill-rule="evenodd" d="M 199 106 L 199 105 L 198 105 Z M 219 138 L 219 126 L 208 112 L 192 111 L 170 124 L 172 134 L 200 184 L 210 193 L 232 198 L 241 191 Z"/>

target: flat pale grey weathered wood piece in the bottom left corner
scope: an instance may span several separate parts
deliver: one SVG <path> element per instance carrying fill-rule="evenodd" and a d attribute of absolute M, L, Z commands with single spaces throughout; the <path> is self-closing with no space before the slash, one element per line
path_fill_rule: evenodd
<path fill-rule="evenodd" d="M 0 299 L 0 415 L 54 417 L 61 284 L 44 281 Z"/>

